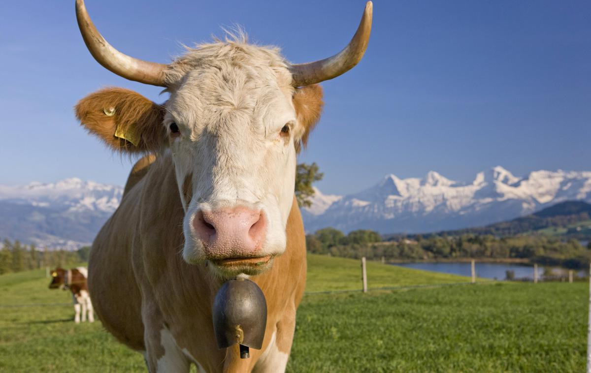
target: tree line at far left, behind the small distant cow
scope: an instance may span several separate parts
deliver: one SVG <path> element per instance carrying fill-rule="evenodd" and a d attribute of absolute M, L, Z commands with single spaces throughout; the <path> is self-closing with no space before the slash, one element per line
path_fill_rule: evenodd
<path fill-rule="evenodd" d="M 34 244 L 25 245 L 20 241 L 2 241 L 0 248 L 0 274 L 20 272 L 43 267 L 68 267 L 88 261 L 90 247 L 76 251 L 39 250 Z"/>

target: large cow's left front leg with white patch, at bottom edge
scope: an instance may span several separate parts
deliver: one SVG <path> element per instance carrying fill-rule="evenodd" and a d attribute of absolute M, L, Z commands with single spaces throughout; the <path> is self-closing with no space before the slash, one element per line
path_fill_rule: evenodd
<path fill-rule="evenodd" d="M 148 307 L 142 308 L 148 370 L 152 373 L 188 373 L 190 362 L 178 348 L 172 333 L 164 326 L 160 312 L 155 307 L 151 307 L 151 311 Z"/>

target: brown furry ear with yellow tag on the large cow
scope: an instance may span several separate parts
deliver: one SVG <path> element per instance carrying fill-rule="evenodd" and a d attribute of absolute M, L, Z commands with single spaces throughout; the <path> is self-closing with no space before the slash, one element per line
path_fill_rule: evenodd
<path fill-rule="evenodd" d="M 120 152 L 155 152 L 165 143 L 164 106 L 134 91 L 102 89 L 75 109 L 81 125 Z"/>

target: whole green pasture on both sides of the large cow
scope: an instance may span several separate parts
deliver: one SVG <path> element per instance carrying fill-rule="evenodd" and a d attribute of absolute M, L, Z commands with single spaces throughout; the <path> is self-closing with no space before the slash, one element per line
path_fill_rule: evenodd
<path fill-rule="evenodd" d="M 467 278 L 368 263 L 370 288 L 431 286 L 314 293 L 359 289 L 360 277 L 359 261 L 309 256 L 288 371 L 584 369 L 586 283 L 438 286 Z M 145 371 L 100 322 L 74 324 L 69 293 L 48 283 L 44 270 L 0 276 L 0 371 Z"/>

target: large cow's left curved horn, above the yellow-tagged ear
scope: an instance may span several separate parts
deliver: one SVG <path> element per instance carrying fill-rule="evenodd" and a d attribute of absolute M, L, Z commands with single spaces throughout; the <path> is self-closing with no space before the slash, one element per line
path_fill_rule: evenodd
<path fill-rule="evenodd" d="M 126 79 L 139 81 L 139 83 L 166 86 L 164 84 L 164 70 L 167 65 L 138 60 L 111 47 L 111 44 L 100 35 L 90 20 L 83 0 L 76 0 L 76 19 L 90 54 L 107 70 Z"/>

